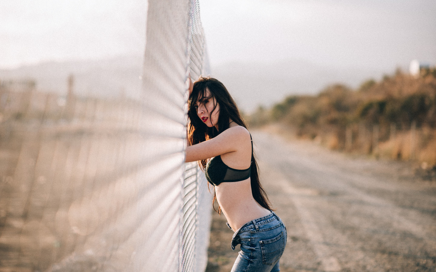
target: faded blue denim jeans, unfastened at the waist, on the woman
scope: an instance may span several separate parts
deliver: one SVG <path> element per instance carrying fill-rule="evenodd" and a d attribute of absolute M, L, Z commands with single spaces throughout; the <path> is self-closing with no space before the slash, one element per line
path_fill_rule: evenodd
<path fill-rule="evenodd" d="M 274 212 L 245 223 L 232 238 L 232 250 L 241 244 L 232 272 L 280 271 L 279 259 L 286 246 L 286 237 L 285 225 Z"/>

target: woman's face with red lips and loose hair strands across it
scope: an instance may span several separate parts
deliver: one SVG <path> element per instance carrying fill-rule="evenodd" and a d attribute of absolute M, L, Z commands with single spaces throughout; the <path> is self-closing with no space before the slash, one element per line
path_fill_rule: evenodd
<path fill-rule="evenodd" d="M 215 111 L 213 111 L 214 107 Z M 217 104 L 215 97 L 211 95 L 208 88 L 206 88 L 206 95 L 198 99 L 194 108 L 197 111 L 198 118 L 209 128 L 218 125 L 219 104 Z"/>

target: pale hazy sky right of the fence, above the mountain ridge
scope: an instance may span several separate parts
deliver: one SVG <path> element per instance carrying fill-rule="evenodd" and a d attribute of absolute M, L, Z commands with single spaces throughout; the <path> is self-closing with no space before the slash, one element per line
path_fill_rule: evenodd
<path fill-rule="evenodd" d="M 434 0 L 200 2 L 212 67 L 302 59 L 337 67 L 436 64 Z M 394 68 L 393 68 L 394 67 Z"/>

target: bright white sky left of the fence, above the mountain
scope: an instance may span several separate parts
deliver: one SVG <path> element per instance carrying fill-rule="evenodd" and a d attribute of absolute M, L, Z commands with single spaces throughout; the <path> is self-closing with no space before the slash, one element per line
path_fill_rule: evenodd
<path fill-rule="evenodd" d="M 0 68 L 143 54 L 145 0 L 0 1 Z"/>

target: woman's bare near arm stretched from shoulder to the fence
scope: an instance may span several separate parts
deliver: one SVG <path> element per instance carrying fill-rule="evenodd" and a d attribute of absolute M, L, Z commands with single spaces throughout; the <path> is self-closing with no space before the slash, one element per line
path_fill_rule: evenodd
<path fill-rule="evenodd" d="M 186 162 L 200 161 L 238 151 L 243 143 L 250 139 L 250 134 L 244 127 L 228 128 L 208 141 L 194 144 L 186 148 Z"/>

